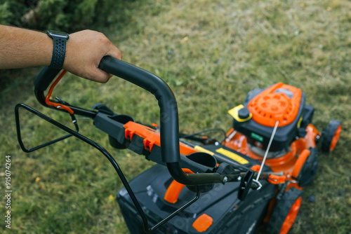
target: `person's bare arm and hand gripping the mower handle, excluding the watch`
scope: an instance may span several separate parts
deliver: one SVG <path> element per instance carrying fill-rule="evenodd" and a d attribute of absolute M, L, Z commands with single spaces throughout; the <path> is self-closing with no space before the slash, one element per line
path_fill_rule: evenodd
<path fill-rule="evenodd" d="M 105 55 L 122 58 L 121 51 L 107 37 L 91 30 L 69 34 L 63 69 L 105 83 L 112 76 L 98 69 Z M 0 69 L 49 66 L 53 39 L 45 33 L 0 25 Z"/>

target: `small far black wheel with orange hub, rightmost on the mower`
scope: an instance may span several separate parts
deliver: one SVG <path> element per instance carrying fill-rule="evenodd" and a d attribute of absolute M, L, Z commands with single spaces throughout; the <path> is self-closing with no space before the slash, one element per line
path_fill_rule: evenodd
<path fill-rule="evenodd" d="M 341 122 L 333 119 L 322 133 L 322 151 L 331 152 L 336 146 L 341 132 Z"/>

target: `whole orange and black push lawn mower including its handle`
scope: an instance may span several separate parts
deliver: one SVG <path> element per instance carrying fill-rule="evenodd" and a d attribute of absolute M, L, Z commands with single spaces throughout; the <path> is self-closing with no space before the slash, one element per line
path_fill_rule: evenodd
<path fill-rule="evenodd" d="M 44 106 L 67 112 L 76 130 L 18 104 L 15 120 L 23 151 L 72 136 L 98 149 L 124 184 L 117 192 L 117 202 L 133 234 L 253 233 L 263 223 L 267 233 L 288 233 L 298 214 L 303 188 L 317 173 L 317 143 L 322 151 L 333 151 L 340 137 L 340 121 L 330 121 L 326 130 L 319 132 L 311 124 L 314 108 L 305 103 L 303 91 L 276 83 L 252 90 L 241 105 L 228 111 L 233 124 L 224 132 L 224 139 L 209 136 L 218 129 L 180 134 L 176 98 L 161 78 L 108 56 L 101 60 L 100 69 L 151 92 L 159 103 L 160 125 L 138 123 L 105 104 L 83 109 L 58 97 L 51 99 L 65 71 L 45 67 L 34 81 L 35 95 Z M 68 134 L 27 149 L 22 142 L 19 109 Z M 79 134 L 75 115 L 91 118 L 96 128 L 107 133 L 115 149 L 130 149 L 156 164 L 127 181 L 106 149 Z"/>

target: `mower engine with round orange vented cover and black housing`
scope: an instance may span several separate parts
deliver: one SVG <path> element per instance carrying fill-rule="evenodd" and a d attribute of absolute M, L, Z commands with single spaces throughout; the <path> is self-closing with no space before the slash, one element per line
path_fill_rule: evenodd
<path fill-rule="evenodd" d="M 264 155 L 272 128 L 278 124 L 268 158 L 284 156 L 294 140 L 305 137 L 313 112 L 314 108 L 305 104 L 305 94 L 284 83 L 249 92 L 243 105 L 229 111 L 233 128 L 246 137 L 246 150 L 257 156 Z"/>

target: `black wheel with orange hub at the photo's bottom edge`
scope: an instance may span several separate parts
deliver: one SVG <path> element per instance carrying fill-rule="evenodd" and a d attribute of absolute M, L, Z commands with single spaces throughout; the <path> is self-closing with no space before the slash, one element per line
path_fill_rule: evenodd
<path fill-rule="evenodd" d="M 270 221 L 267 223 L 267 233 L 286 234 L 295 221 L 298 210 L 303 200 L 303 191 L 298 188 L 290 188 L 278 200 L 273 208 Z"/>

